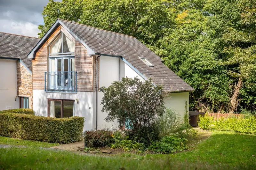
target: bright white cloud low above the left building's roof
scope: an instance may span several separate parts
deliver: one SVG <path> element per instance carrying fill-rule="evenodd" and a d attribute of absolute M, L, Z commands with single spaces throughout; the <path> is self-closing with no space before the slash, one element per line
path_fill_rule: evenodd
<path fill-rule="evenodd" d="M 37 25 L 31 22 L 0 19 L 0 23 L 1 32 L 38 37 Z"/>

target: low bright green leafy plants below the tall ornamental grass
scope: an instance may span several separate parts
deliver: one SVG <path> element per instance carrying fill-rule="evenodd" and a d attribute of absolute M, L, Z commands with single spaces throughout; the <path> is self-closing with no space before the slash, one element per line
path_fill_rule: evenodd
<path fill-rule="evenodd" d="M 177 135 L 170 134 L 170 136 L 163 137 L 160 142 L 152 141 L 152 144 L 148 149 L 156 153 L 173 153 L 183 151 L 188 149 L 185 144 L 186 141 L 187 139 L 185 138 L 180 138 Z"/>

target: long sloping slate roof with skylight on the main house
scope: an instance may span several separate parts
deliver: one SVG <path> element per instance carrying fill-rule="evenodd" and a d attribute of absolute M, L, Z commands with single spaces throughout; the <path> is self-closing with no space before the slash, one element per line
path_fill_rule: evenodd
<path fill-rule="evenodd" d="M 135 37 L 85 26 L 60 19 L 77 37 L 95 53 L 121 55 L 154 84 L 163 85 L 165 91 L 193 91 L 194 89 L 162 63 L 162 59 Z M 146 58 L 154 67 L 147 66 L 139 57 Z"/>

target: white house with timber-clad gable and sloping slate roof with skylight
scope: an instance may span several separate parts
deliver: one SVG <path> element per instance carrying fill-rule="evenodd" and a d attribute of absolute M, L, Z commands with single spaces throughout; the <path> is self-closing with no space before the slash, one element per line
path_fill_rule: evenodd
<path fill-rule="evenodd" d="M 84 130 L 114 127 L 105 122 L 102 86 L 122 77 L 153 79 L 169 96 L 166 107 L 183 117 L 194 89 L 136 38 L 57 19 L 29 53 L 36 115 L 85 117 Z"/>

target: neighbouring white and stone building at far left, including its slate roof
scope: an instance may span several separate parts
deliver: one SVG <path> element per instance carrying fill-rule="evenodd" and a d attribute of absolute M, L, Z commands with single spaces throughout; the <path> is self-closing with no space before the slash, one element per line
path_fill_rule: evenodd
<path fill-rule="evenodd" d="M 39 38 L 0 32 L 0 110 L 33 108 L 32 60 Z"/>

